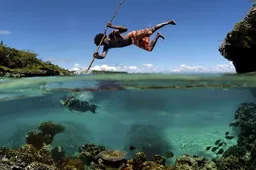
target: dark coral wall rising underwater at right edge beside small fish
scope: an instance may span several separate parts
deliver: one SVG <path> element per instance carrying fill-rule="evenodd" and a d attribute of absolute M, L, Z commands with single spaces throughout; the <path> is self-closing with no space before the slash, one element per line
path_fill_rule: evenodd
<path fill-rule="evenodd" d="M 216 159 L 218 170 L 254 170 L 256 160 L 256 104 L 241 103 L 230 126 L 238 127 L 237 145 L 228 148 Z"/>

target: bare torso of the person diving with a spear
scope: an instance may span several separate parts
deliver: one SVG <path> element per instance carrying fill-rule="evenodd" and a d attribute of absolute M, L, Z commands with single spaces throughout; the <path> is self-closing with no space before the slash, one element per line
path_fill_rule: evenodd
<path fill-rule="evenodd" d="M 105 46 L 110 48 L 121 48 L 132 44 L 132 40 L 128 35 L 122 36 L 121 34 L 109 34 L 108 38 L 104 40 Z"/>

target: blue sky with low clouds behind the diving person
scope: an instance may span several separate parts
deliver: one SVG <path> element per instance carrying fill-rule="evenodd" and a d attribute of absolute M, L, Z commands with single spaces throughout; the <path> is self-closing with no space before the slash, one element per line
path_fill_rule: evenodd
<path fill-rule="evenodd" d="M 67 69 L 87 68 L 96 50 L 94 36 L 104 31 L 120 1 L 0 0 L 0 40 Z M 165 40 L 159 40 L 154 51 L 136 46 L 111 49 L 93 68 L 234 71 L 218 48 L 251 6 L 249 0 L 126 0 L 113 25 L 128 31 L 168 20 L 177 25 L 159 30 Z"/>

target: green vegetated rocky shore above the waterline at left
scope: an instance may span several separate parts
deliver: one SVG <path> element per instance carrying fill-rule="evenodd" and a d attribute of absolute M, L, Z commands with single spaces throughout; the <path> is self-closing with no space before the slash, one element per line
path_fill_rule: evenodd
<path fill-rule="evenodd" d="M 17 50 L 0 43 L 0 76 L 33 77 L 70 75 L 71 72 L 49 61 L 42 61 L 29 50 Z"/>

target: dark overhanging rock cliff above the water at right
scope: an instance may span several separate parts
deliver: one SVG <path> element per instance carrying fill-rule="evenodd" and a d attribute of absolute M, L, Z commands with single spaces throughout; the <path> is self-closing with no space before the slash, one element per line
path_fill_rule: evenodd
<path fill-rule="evenodd" d="M 233 65 L 237 73 L 255 72 L 256 65 L 256 5 L 248 11 L 244 20 L 238 22 L 226 35 L 219 51 Z"/>

